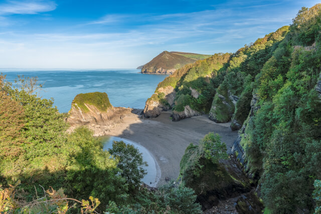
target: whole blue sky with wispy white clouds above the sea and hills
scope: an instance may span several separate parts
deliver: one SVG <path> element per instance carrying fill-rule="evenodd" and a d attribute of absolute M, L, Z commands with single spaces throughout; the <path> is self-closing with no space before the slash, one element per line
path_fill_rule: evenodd
<path fill-rule="evenodd" d="M 0 68 L 136 68 L 164 50 L 235 52 L 317 3 L 0 0 Z"/>

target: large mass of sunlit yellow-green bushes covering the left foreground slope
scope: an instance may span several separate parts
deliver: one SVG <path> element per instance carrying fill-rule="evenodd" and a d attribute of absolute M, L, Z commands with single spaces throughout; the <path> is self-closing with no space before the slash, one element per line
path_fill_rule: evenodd
<path fill-rule="evenodd" d="M 37 192 L 43 194 L 41 186 L 62 187 L 75 198 L 104 198 L 102 205 L 128 194 L 117 161 L 102 150 L 102 143 L 92 137 L 91 131 L 79 128 L 67 134 L 67 115 L 52 107 L 52 100 L 41 99 L 24 87 L 18 89 L 2 82 L 0 91 L 0 111 L 6 111 L 0 117 L 6 121 L 2 126 L 6 135 L 0 143 L 4 185 L 21 180 L 17 191 L 24 192 L 27 201 Z"/>

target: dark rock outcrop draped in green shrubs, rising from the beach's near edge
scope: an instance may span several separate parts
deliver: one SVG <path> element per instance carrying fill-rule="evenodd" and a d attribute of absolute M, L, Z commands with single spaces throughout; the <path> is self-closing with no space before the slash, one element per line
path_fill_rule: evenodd
<path fill-rule="evenodd" d="M 199 145 L 190 144 L 180 163 L 182 184 L 197 193 L 204 209 L 219 200 L 250 190 L 250 183 L 240 171 L 235 171 L 228 159 L 226 145 L 218 134 L 209 133 Z"/>

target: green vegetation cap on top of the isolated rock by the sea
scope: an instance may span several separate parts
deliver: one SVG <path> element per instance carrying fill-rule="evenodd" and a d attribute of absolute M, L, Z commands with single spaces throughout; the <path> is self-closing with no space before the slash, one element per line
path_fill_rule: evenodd
<path fill-rule="evenodd" d="M 108 95 L 104 92 L 92 92 L 86 94 L 77 94 L 72 104 L 77 104 L 79 108 L 81 108 L 84 112 L 88 112 L 88 108 L 86 104 L 90 104 L 98 108 L 100 111 L 106 111 L 111 107 L 109 102 Z"/>

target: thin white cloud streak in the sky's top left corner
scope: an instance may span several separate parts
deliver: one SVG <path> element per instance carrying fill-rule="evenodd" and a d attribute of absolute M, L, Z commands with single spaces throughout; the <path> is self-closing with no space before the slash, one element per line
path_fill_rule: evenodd
<path fill-rule="evenodd" d="M 56 7 L 52 1 L 8 1 L 0 5 L 0 15 L 39 14 L 53 11 Z"/>

